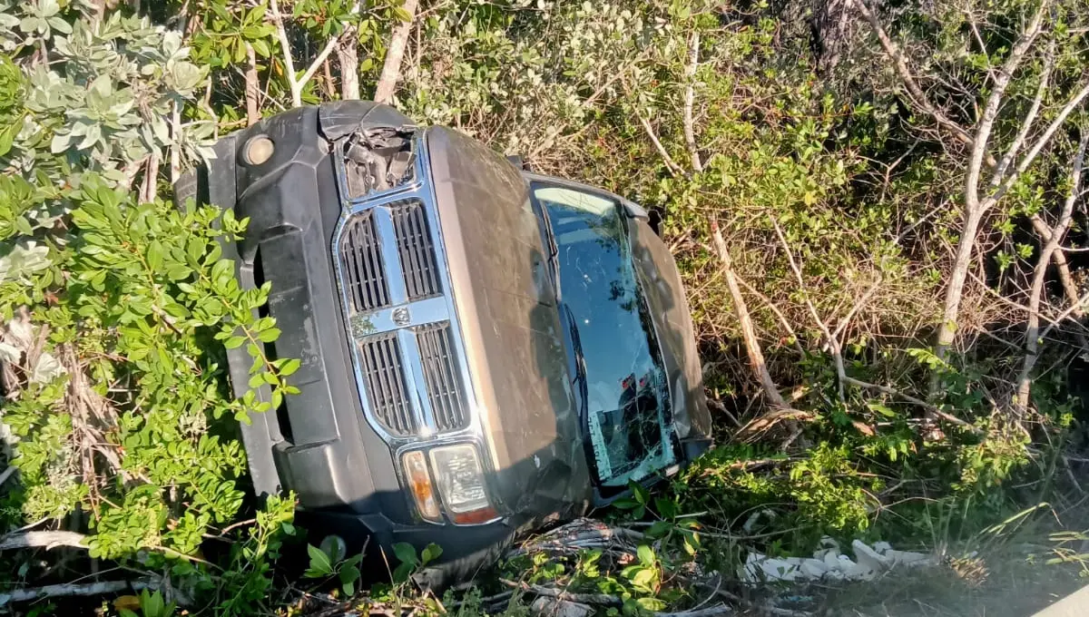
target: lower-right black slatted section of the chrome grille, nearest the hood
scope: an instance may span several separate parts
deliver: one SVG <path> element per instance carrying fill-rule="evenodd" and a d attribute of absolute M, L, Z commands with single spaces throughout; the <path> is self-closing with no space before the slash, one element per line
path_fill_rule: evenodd
<path fill-rule="evenodd" d="M 416 332 L 428 400 L 440 432 L 464 428 L 467 422 L 465 396 L 454 365 L 450 323 L 423 326 Z"/>

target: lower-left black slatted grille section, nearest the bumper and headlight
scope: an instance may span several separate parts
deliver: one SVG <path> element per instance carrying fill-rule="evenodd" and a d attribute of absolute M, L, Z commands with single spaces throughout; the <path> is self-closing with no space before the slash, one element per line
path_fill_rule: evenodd
<path fill-rule="evenodd" d="M 379 422 L 395 435 L 416 433 L 416 419 L 405 395 L 404 363 L 395 334 L 359 342 L 370 408 Z"/>

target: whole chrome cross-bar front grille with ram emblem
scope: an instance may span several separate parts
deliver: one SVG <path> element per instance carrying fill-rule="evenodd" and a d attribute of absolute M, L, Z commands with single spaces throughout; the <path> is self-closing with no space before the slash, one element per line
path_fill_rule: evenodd
<path fill-rule="evenodd" d="M 426 148 L 413 151 L 408 180 L 365 195 L 337 163 L 345 213 L 331 245 L 364 414 L 397 445 L 478 430 Z"/>

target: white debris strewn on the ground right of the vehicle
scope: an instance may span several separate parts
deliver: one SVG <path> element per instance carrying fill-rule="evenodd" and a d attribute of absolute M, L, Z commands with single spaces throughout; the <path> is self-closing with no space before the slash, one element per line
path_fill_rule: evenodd
<path fill-rule="evenodd" d="M 840 552 L 840 544 L 831 538 L 822 538 L 820 548 L 807 557 L 769 557 L 760 553 L 749 553 L 742 567 L 742 579 L 759 581 L 812 581 L 828 580 L 871 580 L 895 567 L 933 565 L 933 557 L 923 553 L 895 551 L 888 542 L 866 544 L 855 540 L 851 547 L 852 559 Z"/>

